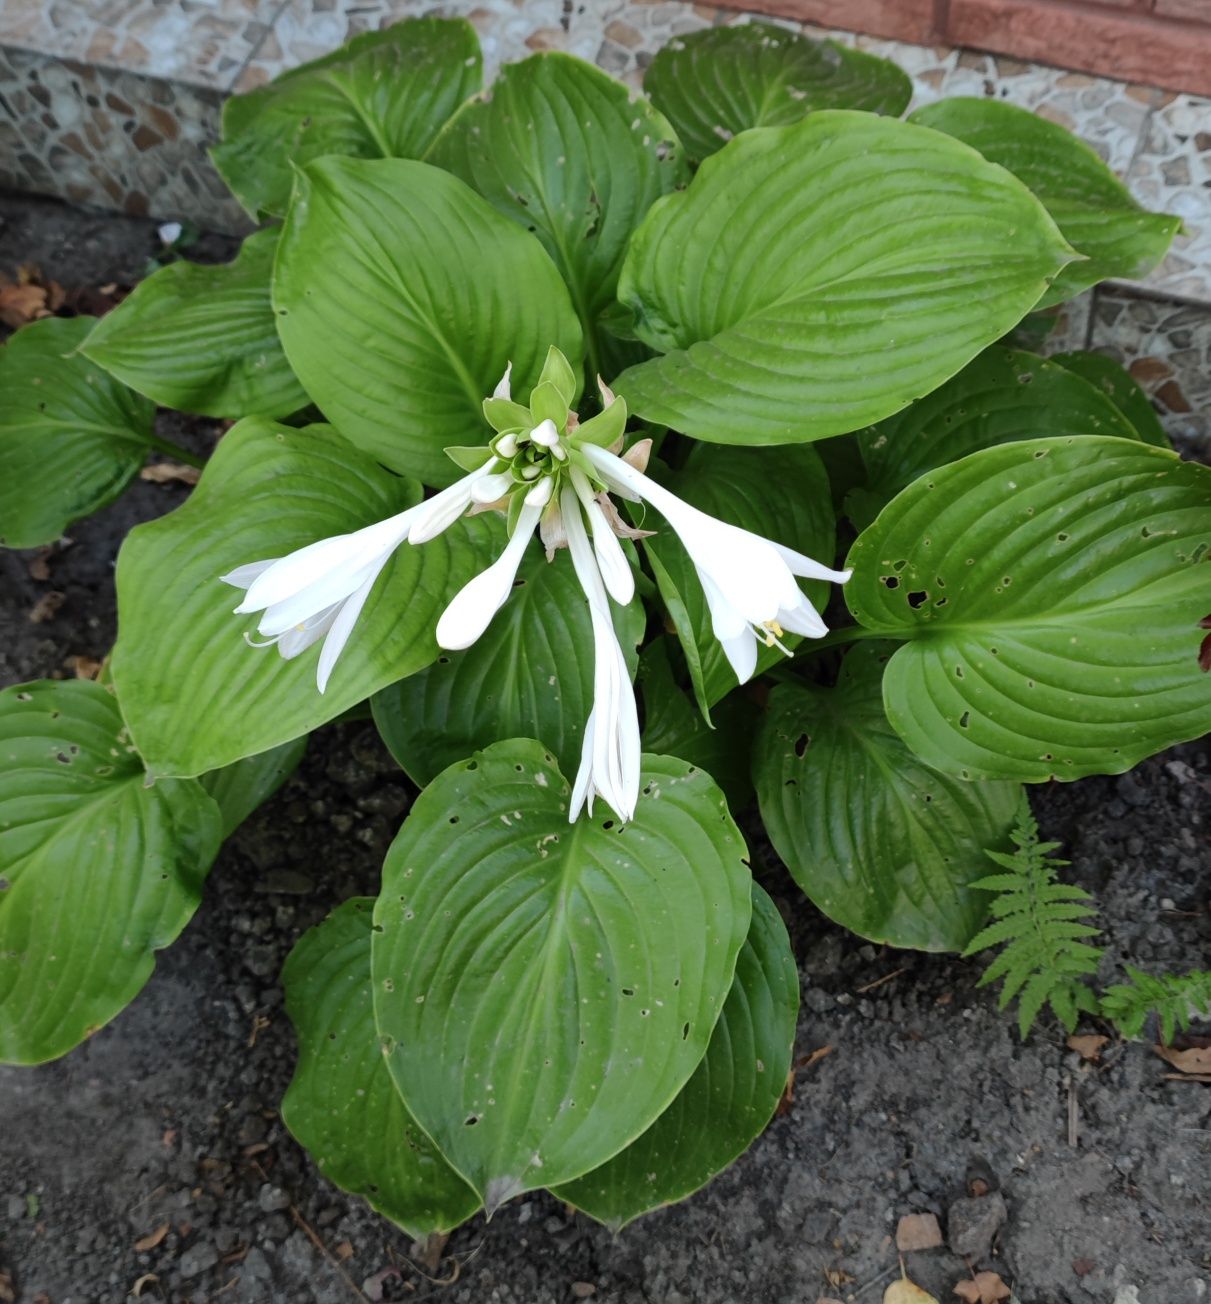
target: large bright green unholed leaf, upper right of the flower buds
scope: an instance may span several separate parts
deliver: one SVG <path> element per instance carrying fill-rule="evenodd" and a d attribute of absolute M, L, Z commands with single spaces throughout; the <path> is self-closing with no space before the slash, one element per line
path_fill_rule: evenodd
<path fill-rule="evenodd" d="M 746 132 L 656 203 L 618 286 L 666 356 L 631 409 L 717 443 L 799 443 L 928 394 L 1074 254 L 1047 210 L 939 132 L 824 110 Z"/>

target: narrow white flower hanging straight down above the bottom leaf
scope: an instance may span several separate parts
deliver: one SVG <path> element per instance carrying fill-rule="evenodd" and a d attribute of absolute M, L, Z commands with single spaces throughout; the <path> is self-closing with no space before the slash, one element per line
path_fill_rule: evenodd
<path fill-rule="evenodd" d="M 604 797 L 614 814 L 628 822 L 635 818 L 639 803 L 641 748 L 635 691 L 574 490 L 563 490 L 561 506 L 572 566 L 589 601 L 593 622 L 593 709 L 584 726 L 568 823 L 576 822 L 584 806 L 592 815 L 594 797 Z"/>

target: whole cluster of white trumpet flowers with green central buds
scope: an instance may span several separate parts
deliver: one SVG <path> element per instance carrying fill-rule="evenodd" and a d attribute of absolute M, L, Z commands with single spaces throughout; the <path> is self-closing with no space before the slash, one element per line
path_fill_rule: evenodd
<path fill-rule="evenodd" d="M 757 645 L 783 634 L 819 638 L 824 621 L 804 597 L 799 579 L 843 583 L 849 571 L 819 562 L 709 516 L 657 484 L 645 468 L 650 441 L 623 452 L 626 403 L 606 385 L 602 411 L 580 422 L 571 411 L 576 378 L 553 348 L 529 406 L 515 403 L 506 370 L 484 415 L 495 432 L 486 446 L 447 449 L 467 473 L 450 488 L 387 520 L 349 535 L 322 539 L 287 557 L 240 566 L 223 579 L 245 589 L 237 614 L 262 612 L 258 632 L 285 659 L 323 639 L 317 683 L 323 692 L 336 659 L 382 569 L 404 542 L 420 546 L 464 512 L 499 510 L 510 537 L 501 556 L 451 600 L 437 625 L 437 642 L 467 648 L 508 599 L 518 567 L 537 531 L 553 559 L 567 548 L 584 589 L 593 627 L 593 708 L 585 724 L 580 769 L 568 812 L 592 814 L 602 797 L 630 820 L 639 801 L 640 734 L 635 694 L 610 613 L 635 597 L 635 576 L 620 539 L 645 533 L 628 526 L 613 498 L 645 502 L 677 532 L 703 585 L 716 638 L 737 679 L 756 669 Z"/>

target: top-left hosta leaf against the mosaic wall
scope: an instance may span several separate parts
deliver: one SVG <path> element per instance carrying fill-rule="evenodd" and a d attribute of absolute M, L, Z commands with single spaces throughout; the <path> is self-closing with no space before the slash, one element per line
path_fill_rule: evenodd
<path fill-rule="evenodd" d="M 233 95 L 210 153 L 255 219 L 285 213 L 293 170 L 325 154 L 418 159 L 482 83 L 474 29 L 463 18 L 409 18 L 368 31 L 323 59 Z"/>

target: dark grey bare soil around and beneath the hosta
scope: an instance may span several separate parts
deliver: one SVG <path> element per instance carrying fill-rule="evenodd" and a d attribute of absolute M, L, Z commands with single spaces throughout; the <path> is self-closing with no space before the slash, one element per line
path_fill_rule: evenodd
<path fill-rule="evenodd" d="M 0 271 L 30 259 L 65 286 L 132 280 L 155 246 L 151 223 L 0 197 Z M 173 432 L 202 447 L 212 436 Z M 107 651 L 119 542 L 182 496 L 137 482 L 72 529 L 48 580 L 30 554 L 0 553 L 0 685 Z M 33 623 L 48 589 L 63 604 Z M 1104 977 L 1124 961 L 1207 964 L 1208 792 L 1207 742 L 1130 776 L 1035 790 L 1044 833 L 1098 896 Z M 142 995 L 60 1063 L 0 1069 L 0 1271 L 18 1301 L 871 1304 L 896 1270 L 897 1219 L 932 1211 L 945 1227 L 972 1164 L 1008 1209 L 975 1266 L 1021 1304 L 1211 1295 L 1211 1093 L 1167 1080 L 1143 1045 L 1112 1042 L 1087 1064 L 1047 1024 L 1021 1045 L 975 990 L 975 965 L 842 932 L 760 844 L 759 876 L 800 960 L 798 1051 L 830 1047 L 800 1069 L 793 1106 L 708 1191 L 620 1236 L 534 1193 L 455 1232 L 424 1267 L 407 1236 L 319 1178 L 278 1118 L 295 1056 L 282 961 L 335 904 L 375 891 L 409 801 L 369 725 L 322 730 L 224 848 Z M 907 1264 L 940 1300 L 967 1275 L 949 1249 Z"/>

